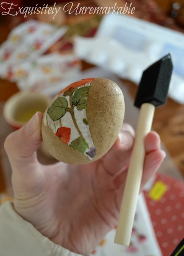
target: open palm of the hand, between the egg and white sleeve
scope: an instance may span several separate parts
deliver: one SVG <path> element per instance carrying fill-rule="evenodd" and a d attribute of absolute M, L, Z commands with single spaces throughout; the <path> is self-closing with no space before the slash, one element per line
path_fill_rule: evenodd
<path fill-rule="evenodd" d="M 42 166 L 35 162 L 34 174 L 27 177 L 29 188 L 23 188 L 27 190 L 25 210 L 20 208 L 14 187 L 16 211 L 54 243 L 84 255 L 92 252 L 118 219 L 120 184 L 124 186 L 126 178 L 126 172 L 118 175 L 118 171 L 126 169 L 130 151 L 124 152 L 123 161 L 122 156 L 121 161 L 118 156 L 113 161 L 112 150 L 87 165 Z M 33 177 L 39 182 L 39 194 L 29 202 L 37 183 Z"/>

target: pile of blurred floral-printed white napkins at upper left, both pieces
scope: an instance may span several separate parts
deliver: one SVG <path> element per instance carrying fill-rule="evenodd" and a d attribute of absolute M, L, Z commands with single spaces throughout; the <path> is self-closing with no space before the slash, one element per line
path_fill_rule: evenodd
<path fill-rule="evenodd" d="M 44 54 L 66 32 L 52 24 L 29 20 L 14 28 L 0 46 L 0 77 L 16 82 L 20 90 L 52 88 L 80 72 L 73 55 Z"/>

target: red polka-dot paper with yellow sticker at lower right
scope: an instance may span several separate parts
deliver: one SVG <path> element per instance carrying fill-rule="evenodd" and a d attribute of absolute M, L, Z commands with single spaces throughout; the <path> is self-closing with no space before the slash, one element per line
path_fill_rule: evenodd
<path fill-rule="evenodd" d="M 184 238 L 184 182 L 157 174 L 144 196 L 162 254 L 169 256 Z"/>

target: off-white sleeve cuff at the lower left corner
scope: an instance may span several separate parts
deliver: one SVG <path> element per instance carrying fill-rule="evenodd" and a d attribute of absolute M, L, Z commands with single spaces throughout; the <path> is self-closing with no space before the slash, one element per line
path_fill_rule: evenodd
<path fill-rule="evenodd" d="M 0 255 L 81 256 L 42 236 L 15 212 L 11 202 L 0 207 Z"/>

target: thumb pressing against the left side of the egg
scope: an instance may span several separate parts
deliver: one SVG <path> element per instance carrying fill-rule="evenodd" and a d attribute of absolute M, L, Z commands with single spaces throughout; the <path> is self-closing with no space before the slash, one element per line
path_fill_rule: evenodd
<path fill-rule="evenodd" d="M 12 170 L 22 168 L 36 161 L 36 150 L 42 143 L 42 113 L 34 116 L 19 130 L 12 132 L 4 142 L 4 148 L 10 160 Z"/>

